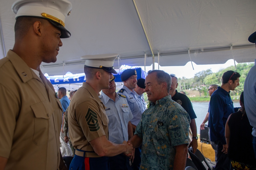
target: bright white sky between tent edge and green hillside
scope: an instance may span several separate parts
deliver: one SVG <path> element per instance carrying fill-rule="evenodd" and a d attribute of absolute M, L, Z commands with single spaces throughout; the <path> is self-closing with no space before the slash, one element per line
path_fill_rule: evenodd
<path fill-rule="evenodd" d="M 186 77 L 186 78 L 192 78 L 195 76 L 196 73 L 203 71 L 203 70 L 207 70 L 207 69 L 211 69 L 211 71 L 213 73 L 218 72 L 220 69 L 225 69 L 229 66 L 234 66 L 234 60 L 230 59 L 228 60 L 225 64 L 205 64 L 205 65 L 197 65 L 194 62 L 193 63 L 193 67 L 194 70 L 192 68 L 191 62 L 188 62 L 185 66 L 159 66 L 159 70 L 163 70 L 169 74 L 175 74 L 176 77 L 178 78 L 182 78 L 182 77 Z M 236 62 L 236 65 L 238 63 Z M 144 66 L 137 66 L 137 67 L 141 67 L 142 70 L 144 70 Z M 158 69 L 158 64 L 155 63 L 155 69 Z M 146 72 L 148 72 L 149 70 L 152 70 L 152 65 L 151 66 L 146 66 Z"/>

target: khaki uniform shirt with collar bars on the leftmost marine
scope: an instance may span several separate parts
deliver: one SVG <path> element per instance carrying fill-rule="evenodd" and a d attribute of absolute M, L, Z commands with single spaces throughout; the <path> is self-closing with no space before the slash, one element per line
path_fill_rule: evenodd
<path fill-rule="evenodd" d="M 0 156 L 5 169 L 53 169 L 60 163 L 62 108 L 51 83 L 12 50 L 0 60 Z"/>

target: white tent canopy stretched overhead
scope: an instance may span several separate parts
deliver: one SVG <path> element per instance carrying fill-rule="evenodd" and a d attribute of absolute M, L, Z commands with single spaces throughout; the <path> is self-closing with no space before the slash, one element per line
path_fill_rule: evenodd
<path fill-rule="evenodd" d="M 0 0 L 0 58 L 14 45 L 13 2 Z M 248 42 L 249 35 L 256 31 L 255 0 L 70 2 L 72 12 L 65 25 L 71 37 L 62 39 L 56 63 L 41 64 L 41 70 L 49 75 L 81 73 L 81 56 L 104 53 L 119 53 L 116 69 L 123 64 L 150 66 L 153 55 L 158 62 L 158 51 L 161 66 L 184 66 L 190 57 L 196 64 L 255 59 L 255 44 Z"/>

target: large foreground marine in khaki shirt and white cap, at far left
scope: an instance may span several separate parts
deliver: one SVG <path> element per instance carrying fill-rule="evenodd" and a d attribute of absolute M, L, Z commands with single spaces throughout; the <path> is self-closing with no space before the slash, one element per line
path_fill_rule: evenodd
<path fill-rule="evenodd" d="M 15 44 L 0 60 L 1 170 L 66 169 L 59 148 L 62 108 L 40 64 L 55 62 L 60 38 L 70 37 L 64 22 L 71 8 L 67 0 L 12 6 Z"/>

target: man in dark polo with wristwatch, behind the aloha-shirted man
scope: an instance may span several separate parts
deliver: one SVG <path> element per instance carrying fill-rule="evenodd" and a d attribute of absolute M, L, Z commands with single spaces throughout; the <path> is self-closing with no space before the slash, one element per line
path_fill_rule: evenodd
<path fill-rule="evenodd" d="M 175 76 L 175 74 L 170 74 L 170 76 L 172 77 L 172 84 L 171 84 L 171 88 L 170 88 L 170 93 L 169 95 L 172 96 L 172 100 L 176 101 L 177 103 L 179 103 L 185 110 L 186 112 L 188 113 L 189 117 L 190 117 L 190 124 L 189 124 L 189 128 L 191 128 L 191 132 L 192 132 L 192 139 L 191 139 L 191 132 L 189 133 L 189 146 L 192 146 L 193 148 L 193 153 L 196 152 L 196 149 L 198 147 L 198 144 L 197 144 L 197 130 L 196 130 L 196 114 L 193 110 L 193 107 L 192 107 L 192 104 L 189 100 L 189 98 L 184 95 L 184 94 L 181 94 L 179 93 L 176 88 L 178 86 L 178 79 L 177 77 Z M 190 129 L 189 129 L 190 131 Z"/>

